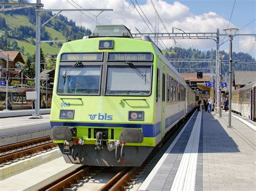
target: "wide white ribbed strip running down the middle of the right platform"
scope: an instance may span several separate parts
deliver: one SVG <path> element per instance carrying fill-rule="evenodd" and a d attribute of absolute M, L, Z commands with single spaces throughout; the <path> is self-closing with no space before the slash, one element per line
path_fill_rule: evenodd
<path fill-rule="evenodd" d="M 178 171 L 172 183 L 171 190 L 194 190 L 197 173 L 198 146 L 201 129 L 202 112 L 198 113 L 193 130 L 188 139 Z"/>

